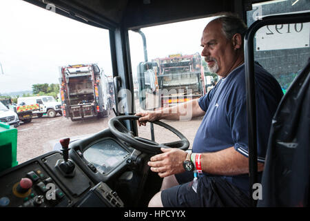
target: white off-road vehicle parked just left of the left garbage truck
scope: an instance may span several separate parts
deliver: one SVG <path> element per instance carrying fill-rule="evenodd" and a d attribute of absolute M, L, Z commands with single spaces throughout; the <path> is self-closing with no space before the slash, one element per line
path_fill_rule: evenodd
<path fill-rule="evenodd" d="M 52 96 L 36 96 L 36 97 L 19 97 L 17 99 L 18 105 L 39 104 L 39 110 L 32 111 L 38 117 L 47 114 L 48 117 L 55 117 L 57 113 L 63 115 L 61 111 L 61 102 L 56 102 Z"/>

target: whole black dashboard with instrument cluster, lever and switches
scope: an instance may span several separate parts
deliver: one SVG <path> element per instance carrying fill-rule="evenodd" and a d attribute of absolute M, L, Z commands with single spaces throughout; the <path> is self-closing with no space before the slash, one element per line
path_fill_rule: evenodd
<path fill-rule="evenodd" d="M 0 207 L 118 207 L 143 195 L 145 153 L 108 128 L 69 146 L 68 159 L 52 151 L 1 172 Z"/>

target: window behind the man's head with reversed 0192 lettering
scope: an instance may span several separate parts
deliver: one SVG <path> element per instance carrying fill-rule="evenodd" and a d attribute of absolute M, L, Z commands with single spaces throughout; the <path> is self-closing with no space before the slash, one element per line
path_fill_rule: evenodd
<path fill-rule="evenodd" d="M 247 25 L 268 15 L 310 12 L 307 0 L 255 3 L 247 12 Z M 256 32 L 254 59 L 278 80 L 283 93 L 310 57 L 310 23 L 265 26 Z"/>

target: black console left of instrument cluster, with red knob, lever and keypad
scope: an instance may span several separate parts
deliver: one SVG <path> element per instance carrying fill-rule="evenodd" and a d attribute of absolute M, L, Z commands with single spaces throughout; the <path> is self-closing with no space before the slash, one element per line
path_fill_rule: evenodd
<path fill-rule="evenodd" d="M 59 151 L 36 157 L 0 174 L 0 207 L 123 205 L 107 184 L 94 184 L 78 164 L 65 161 Z"/>

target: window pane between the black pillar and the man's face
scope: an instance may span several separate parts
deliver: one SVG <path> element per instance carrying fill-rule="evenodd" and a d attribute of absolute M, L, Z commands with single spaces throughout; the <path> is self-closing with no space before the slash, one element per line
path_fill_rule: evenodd
<path fill-rule="evenodd" d="M 200 39 L 210 19 L 142 28 L 146 48 L 140 33 L 129 32 L 136 113 L 198 99 L 214 86 L 217 75 L 209 72 L 200 56 Z M 162 122 L 183 133 L 192 148 L 202 118 L 187 115 L 180 120 Z M 138 135 L 151 140 L 150 131 L 151 124 L 147 124 L 138 128 Z M 158 143 L 178 140 L 176 135 L 156 124 L 154 138 Z"/>

